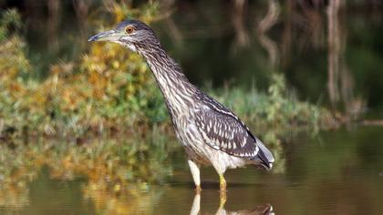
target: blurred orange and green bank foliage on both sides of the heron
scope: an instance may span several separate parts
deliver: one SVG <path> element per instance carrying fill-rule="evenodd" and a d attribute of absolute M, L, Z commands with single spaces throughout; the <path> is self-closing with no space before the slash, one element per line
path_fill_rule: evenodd
<path fill-rule="evenodd" d="M 99 13 L 112 18 L 94 23 L 108 29 L 127 16 L 150 23 L 159 11 L 152 3 L 136 9 L 113 1 L 105 3 L 105 8 Z M 16 34 L 22 26 L 20 17 L 15 10 L 7 11 L 1 24 L 5 44 L 0 64 L 4 83 L 0 94 L 1 137 L 43 132 L 80 138 L 88 133 L 150 128 L 156 123 L 170 126 L 160 90 L 142 57 L 115 44 L 91 43 L 88 53 L 77 61 L 52 65 L 44 81 L 22 78 L 31 68 L 24 40 Z M 215 90 L 208 91 L 214 94 Z M 299 102 L 285 91 L 285 79 L 275 75 L 268 95 L 231 87 L 215 96 L 246 121 L 256 122 L 256 128 L 270 128 L 264 123 L 272 122 L 273 127 L 277 124 L 285 129 L 291 125 L 316 129 L 319 117 L 329 117 L 328 113 L 321 115 L 321 108 Z"/>

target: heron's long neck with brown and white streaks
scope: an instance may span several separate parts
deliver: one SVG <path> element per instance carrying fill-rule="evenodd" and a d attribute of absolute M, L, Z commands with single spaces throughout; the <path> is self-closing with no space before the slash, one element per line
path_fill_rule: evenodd
<path fill-rule="evenodd" d="M 148 51 L 149 50 L 149 51 Z M 165 97 L 171 114 L 185 111 L 192 106 L 192 97 L 197 88 L 181 72 L 175 61 L 160 46 L 138 49 L 144 56 L 157 84 Z"/>

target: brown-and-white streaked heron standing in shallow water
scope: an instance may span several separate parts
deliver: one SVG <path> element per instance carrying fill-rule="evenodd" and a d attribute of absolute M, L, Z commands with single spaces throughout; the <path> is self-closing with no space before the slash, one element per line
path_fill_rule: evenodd
<path fill-rule="evenodd" d="M 185 148 L 196 190 L 202 190 L 202 166 L 217 171 L 222 191 L 226 190 L 226 169 L 246 165 L 272 169 L 272 152 L 232 110 L 191 84 L 150 26 L 129 19 L 88 41 L 117 43 L 145 59 L 164 97 L 176 137 Z"/>

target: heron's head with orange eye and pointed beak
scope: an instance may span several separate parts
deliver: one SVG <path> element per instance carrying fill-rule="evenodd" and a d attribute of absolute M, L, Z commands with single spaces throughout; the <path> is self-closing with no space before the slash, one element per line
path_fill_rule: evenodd
<path fill-rule="evenodd" d="M 160 46 L 160 41 L 150 26 L 138 20 L 123 21 L 114 29 L 91 36 L 88 41 L 109 41 L 135 52 L 142 46 Z"/>

